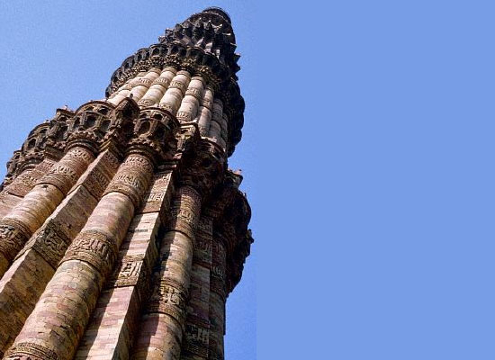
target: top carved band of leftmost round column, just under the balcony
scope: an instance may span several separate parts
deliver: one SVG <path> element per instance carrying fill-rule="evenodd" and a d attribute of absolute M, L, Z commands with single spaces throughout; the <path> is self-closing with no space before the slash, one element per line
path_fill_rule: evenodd
<path fill-rule="evenodd" d="M 49 169 L 47 175 L 40 178 L 38 184 L 52 184 L 60 192 L 67 194 L 93 160 L 94 155 L 88 149 L 71 148 L 56 165 Z"/>

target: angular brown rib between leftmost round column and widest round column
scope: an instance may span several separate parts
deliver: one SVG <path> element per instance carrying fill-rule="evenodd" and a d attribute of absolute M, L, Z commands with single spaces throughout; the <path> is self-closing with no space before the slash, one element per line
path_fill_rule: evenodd
<path fill-rule="evenodd" d="M 31 237 L 0 281 L 0 323 L 10 325 L 0 327 L 0 356 L 23 328 L 67 246 L 85 225 L 118 166 L 117 157 L 104 150 Z"/>

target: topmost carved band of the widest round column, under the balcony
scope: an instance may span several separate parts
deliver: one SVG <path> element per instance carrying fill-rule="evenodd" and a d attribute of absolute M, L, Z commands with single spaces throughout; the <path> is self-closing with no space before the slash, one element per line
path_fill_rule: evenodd
<path fill-rule="evenodd" d="M 144 170 L 144 171 L 143 171 Z M 123 193 L 129 196 L 136 208 L 148 191 L 148 185 L 153 174 L 153 164 L 148 157 L 131 154 L 121 164 L 112 183 L 105 190 L 106 193 Z"/>

